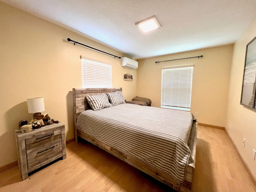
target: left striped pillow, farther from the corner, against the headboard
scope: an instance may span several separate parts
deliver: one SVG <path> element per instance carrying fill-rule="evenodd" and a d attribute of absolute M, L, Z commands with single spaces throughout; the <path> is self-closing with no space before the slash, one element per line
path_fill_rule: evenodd
<path fill-rule="evenodd" d="M 104 93 L 101 93 L 99 95 L 88 95 L 86 96 L 86 99 L 88 100 L 89 105 L 94 111 L 113 106 L 108 101 L 108 96 Z"/>

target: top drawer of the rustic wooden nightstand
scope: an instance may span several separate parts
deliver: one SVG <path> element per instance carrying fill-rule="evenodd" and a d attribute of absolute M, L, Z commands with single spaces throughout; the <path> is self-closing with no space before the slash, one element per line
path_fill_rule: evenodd
<path fill-rule="evenodd" d="M 58 142 L 61 142 L 61 130 L 26 139 L 26 150 L 27 153 L 31 153 Z"/>

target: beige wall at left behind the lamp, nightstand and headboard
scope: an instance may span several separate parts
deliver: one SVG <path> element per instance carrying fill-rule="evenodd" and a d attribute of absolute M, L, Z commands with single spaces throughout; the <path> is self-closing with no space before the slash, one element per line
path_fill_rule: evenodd
<path fill-rule="evenodd" d="M 66 125 L 66 139 L 74 138 L 72 88 L 82 87 L 80 55 L 112 64 L 112 87 L 122 87 L 126 100 L 135 96 L 136 70 L 66 39 L 124 54 L 2 2 L 0 17 L 0 166 L 17 160 L 14 130 L 32 117 L 27 98 L 44 97 L 44 113 Z M 125 73 L 134 81 L 124 81 Z"/>

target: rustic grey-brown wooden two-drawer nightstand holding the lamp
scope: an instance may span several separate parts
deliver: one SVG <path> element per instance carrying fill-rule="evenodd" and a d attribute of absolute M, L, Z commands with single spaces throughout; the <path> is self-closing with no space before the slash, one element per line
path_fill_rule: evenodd
<path fill-rule="evenodd" d="M 18 165 L 22 180 L 58 158 L 66 158 L 65 125 L 46 125 L 31 132 L 15 130 Z"/>

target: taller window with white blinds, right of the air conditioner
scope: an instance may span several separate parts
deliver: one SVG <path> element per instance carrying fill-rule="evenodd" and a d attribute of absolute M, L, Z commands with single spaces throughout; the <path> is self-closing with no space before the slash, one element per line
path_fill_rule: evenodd
<path fill-rule="evenodd" d="M 162 69 L 162 108 L 190 110 L 192 74 L 192 66 Z"/>

